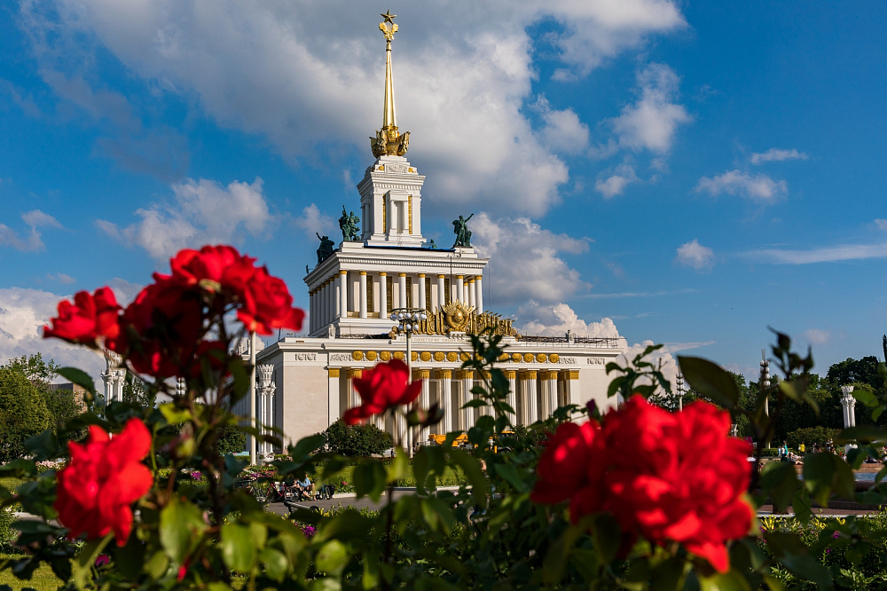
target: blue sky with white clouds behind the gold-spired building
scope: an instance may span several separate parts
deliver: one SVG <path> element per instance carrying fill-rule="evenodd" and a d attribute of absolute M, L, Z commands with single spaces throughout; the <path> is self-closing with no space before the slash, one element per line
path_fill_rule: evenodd
<path fill-rule="evenodd" d="M 131 297 L 208 241 L 307 304 L 389 8 L 423 227 L 477 213 L 488 307 L 748 375 L 768 326 L 823 373 L 881 354 L 882 3 L 47 0 L 0 9 L 0 358 L 96 366 L 39 340 L 59 297 Z"/>

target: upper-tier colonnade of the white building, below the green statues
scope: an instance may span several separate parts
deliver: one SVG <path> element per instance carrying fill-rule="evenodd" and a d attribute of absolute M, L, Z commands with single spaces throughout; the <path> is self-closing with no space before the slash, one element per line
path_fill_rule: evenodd
<path fill-rule="evenodd" d="M 341 317 L 385 318 L 394 308 L 434 309 L 452 300 L 483 311 L 483 275 L 451 276 L 449 273 L 424 272 L 389 275 L 384 271 L 370 273 L 341 269 L 308 294 L 310 330 L 313 332 Z"/>

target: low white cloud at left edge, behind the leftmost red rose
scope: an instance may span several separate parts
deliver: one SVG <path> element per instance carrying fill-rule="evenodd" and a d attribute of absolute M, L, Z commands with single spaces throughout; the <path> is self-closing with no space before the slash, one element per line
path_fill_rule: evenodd
<path fill-rule="evenodd" d="M 81 368 L 97 380 L 101 390 L 98 375 L 105 368 L 103 358 L 59 339 L 43 339 L 43 325 L 56 315 L 59 302 L 70 297 L 38 289 L 0 289 L 0 364 L 39 352 L 43 359 L 52 359 L 60 366 Z"/>

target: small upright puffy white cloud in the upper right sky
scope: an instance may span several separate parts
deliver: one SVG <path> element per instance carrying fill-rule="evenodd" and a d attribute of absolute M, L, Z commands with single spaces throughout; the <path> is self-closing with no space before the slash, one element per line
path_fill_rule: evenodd
<path fill-rule="evenodd" d="M 619 145 L 668 152 L 678 125 L 693 121 L 684 106 L 673 102 L 679 95 L 678 75 L 664 64 L 650 64 L 638 74 L 638 85 L 638 101 L 612 120 Z"/>

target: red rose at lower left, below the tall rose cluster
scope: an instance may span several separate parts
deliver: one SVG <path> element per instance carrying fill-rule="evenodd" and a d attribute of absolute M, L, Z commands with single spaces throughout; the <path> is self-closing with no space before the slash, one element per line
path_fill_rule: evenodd
<path fill-rule="evenodd" d="M 113 530 L 117 545 L 126 544 L 130 505 L 151 488 L 151 470 L 141 463 L 150 449 L 151 434 L 139 419 L 130 419 L 114 438 L 93 425 L 85 444 L 68 444 L 71 461 L 56 475 L 55 508 L 72 536 L 101 538 Z"/>

